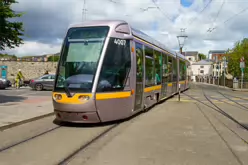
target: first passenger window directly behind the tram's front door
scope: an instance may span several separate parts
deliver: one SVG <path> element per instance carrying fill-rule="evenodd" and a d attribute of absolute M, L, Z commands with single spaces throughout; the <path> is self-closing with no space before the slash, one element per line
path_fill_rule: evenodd
<path fill-rule="evenodd" d="M 153 49 L 145 46 L 145 63 L 146 63 L 146 83 L 145 86 L 155 85 L 155 74 L 154 74 L 154 58 Z"/>

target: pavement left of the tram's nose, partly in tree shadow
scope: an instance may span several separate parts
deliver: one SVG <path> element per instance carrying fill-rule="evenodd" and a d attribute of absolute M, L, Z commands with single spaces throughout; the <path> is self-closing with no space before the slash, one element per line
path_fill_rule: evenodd
<path fill-rule="evenodd" d="M 0 90 L 0 130 L 52 114 L 51 91 Z"/>

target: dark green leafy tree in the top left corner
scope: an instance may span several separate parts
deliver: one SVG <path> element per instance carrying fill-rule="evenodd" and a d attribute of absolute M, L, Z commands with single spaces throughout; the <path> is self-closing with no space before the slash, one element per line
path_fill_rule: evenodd
<path fill-rule="evenodd" d="M 6 47 L 12 49 L 23 44 L 23 23 L 10 22 L 8 19 L 21 17 L 11 9 L 11 4 L 18 3 L 16 0 L 0 0 L 0 50 Z"/>

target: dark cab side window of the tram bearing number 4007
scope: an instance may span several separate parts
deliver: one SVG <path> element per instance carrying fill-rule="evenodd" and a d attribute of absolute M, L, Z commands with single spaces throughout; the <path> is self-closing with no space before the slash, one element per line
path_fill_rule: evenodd
<path fill-rule="evenodd" d="M 124 89 L 131 69 L 130 41 L 110 38 L 98 80 L 97 92 Z"/>

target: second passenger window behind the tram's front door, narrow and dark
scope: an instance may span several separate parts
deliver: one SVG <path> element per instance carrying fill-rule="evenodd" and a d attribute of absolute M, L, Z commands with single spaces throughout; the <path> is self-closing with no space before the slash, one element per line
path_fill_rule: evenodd
<path fill-rule="evenodd" d="M 154 50 L 154 59 L 155 59 L 155 66 L 154 66 L 154 72 L 155 72 L 155 84 L 159 85 L 161 84 L 161 75 L 162 75 L 162 56 L 161 52 Z"/>

